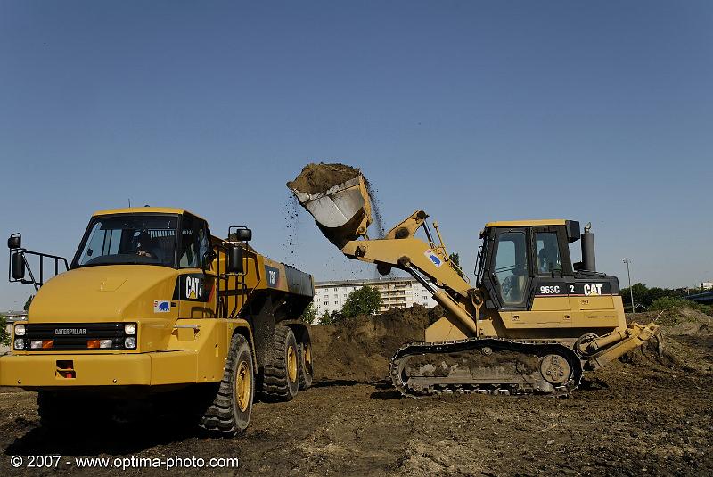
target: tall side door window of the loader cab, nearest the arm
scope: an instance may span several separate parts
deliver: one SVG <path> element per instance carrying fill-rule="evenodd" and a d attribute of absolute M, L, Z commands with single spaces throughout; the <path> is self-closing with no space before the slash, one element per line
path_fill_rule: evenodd
<path fill-rule="evenodd" d="M 496 292 L 505 307 L 515 307 L 525 301 L 525 288 L 529 277 L 525 232 L 501 233 L 497 237 L 496 245 Z"/>

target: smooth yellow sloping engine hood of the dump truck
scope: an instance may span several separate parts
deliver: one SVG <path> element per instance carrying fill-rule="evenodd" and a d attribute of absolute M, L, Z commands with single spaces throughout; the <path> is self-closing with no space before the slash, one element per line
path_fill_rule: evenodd
<path fill-rule="evenodd" d="M 177 271 L 150 265 L 75 268 L 49 280 L 29 308 L 30 323 L 99 323 L 154 317 L 171 300 Z"/>

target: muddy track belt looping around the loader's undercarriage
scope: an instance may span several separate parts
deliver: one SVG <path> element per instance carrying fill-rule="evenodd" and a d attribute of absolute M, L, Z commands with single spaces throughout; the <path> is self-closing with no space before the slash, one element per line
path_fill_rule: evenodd
<path fill-rule="evenodd" d="M 444 341 L 438 343 L 427 343 L 423 341 L 414 341 L 401 347 L 391 358 L 389 365 L 389 374 L 391 376 L 391 382 L 393 382 L 394 387 L 401 392 L 404 396 L 411 398 L 418 398 L 422 396 L 438 395 L 443 393 L 465 393 L 465 392 L 480 392 L 480 393 L 491 393 L 491 394 L 512 394 L 512 386 L 508 383 L 503 383 L 502 388 L 497 383 L 492 384 L 481 384 L 473 383 L 468 387 L 468 385 L 463 384 L 453 384 L 446 385 L 444 389 L 443 384 L 437 384 L 431 386 L 426 391 L 414 391 L 412 390 L 406 382 L 403 382 L 401 375 L 398 372 L 400 361 L 404 358 L 414 356 L 414 355 L 428 355 L 430 353 L 453 353 L 453 352 L 463 352 L 469 350 L 478 350 L 483 347 L 490 347 L 493 353 L 498 351 L 515 351 L 522 353 L 536 354 L 537 356 L 545 356 L 547 354 L 557 354 L 562 358 L 567 359 L 572 370 L 572 378 L 569 382 L 565 382 L 562 386 L 556 387 L 554 391 L 550 394 L 555 396 L 566 396 L 570 391 L 576 389 L 582 379 L 582 362 L 578 358 L 574 350 L 571 350 L 567 346 L 556 342 L 556 341 L 526 341 L 526 340 L 507 340 L 504 338 L 470 338 L 467 340 L 459 341 Z M 524 383 L 523 383 L 524 384 Z M 435 386 L 438 386 L 436 388 Z M 529 389 L 527 386 L 520 391 L 514 392 L 514 394 L 527 394 L 541 391 L 536 391 L 535 389 Z"/>

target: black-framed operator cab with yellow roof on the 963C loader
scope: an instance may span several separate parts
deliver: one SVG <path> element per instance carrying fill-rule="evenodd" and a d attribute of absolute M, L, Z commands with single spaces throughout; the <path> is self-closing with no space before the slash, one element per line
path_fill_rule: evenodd
<path fill-rule="evenodd" d="M 540 291 L 574 291 L 569 244 L 579 239 L 577 221 L 491 222 L 480 237 L 478 285 L 488 292 L 487 308 L 531 309 Z"/>

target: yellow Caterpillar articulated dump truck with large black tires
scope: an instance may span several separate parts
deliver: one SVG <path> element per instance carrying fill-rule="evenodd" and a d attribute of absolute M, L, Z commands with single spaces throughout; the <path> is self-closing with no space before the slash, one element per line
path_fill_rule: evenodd
<path fill-rule="evenodd" d="M 313 277 L 254 251 L 251 235 L 231 226 L 217 238 L 182 209 L 103 210 L 68 264 L 12 234 L 10 281 L 37 295 L 13 325 L 0 385 L 37 390 L 50 428 L 82 416 L 101 425 L 146 402 L 211 433 L 242 432 L 256 392 L 292 399 L 313 376 L 299 322 Z"/>

